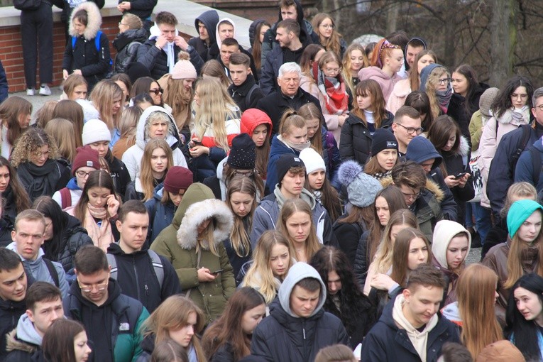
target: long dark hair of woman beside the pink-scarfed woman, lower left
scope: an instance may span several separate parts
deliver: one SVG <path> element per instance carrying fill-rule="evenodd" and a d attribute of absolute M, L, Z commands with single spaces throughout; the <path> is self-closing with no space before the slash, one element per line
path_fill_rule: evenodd
<path fill-rule="evenodd" d="M 57 261 L 57 256 L 64 250 L 67 243 L 65 234 L 69 216 L 60 209 L 57 202 L 50 196 L 40 196 L 35 199 L 32 209 L 38 210 L 43 216 L 48 217 L 52 221 L 53 238 L 46 240 L 42 247 L 45 252 L 45 258 Z"/>

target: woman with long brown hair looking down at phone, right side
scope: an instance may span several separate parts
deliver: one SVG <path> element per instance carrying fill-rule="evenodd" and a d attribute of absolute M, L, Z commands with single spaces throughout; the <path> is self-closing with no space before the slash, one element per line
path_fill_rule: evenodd
<path fill-rule="evenodd" d="M 464 225 L 466 202 L 475 196 L 469 168 L 471 146 L 466 136 L 462 136 L 460 126 L 446 114 L 434 120 L 427 137 L 443 158 L 439 167 L 456 202 L 458 221 Z"/>

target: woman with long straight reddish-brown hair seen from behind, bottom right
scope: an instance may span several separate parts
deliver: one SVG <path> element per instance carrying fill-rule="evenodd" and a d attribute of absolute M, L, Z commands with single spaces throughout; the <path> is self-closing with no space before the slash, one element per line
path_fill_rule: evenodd
<path fill-rule="evenodd" d="M 443 309 L 444 317 L 461 326 L 462 343 L 473 360 L 486 346 L 503 339 L 502 328 L 494 313 L 497 286 L 498 275 L 494 270 L 481 264 L 468 265 L 458 281 L 458 302 Z"/>

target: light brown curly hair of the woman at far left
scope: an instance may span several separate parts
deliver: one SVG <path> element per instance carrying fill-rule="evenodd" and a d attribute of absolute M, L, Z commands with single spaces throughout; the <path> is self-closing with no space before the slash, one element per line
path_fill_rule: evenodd
<path fill-rule="evenodd" d="M 57 160 L 59 154 L 55 138 L 41 128 L 30 128 L 18 138 L 13 153 L 11 153 L 11 165 L 17 168 L 21 163 L 30 162 L 32 155 L 45 145 L 49 146 L 48 158 Z"/>

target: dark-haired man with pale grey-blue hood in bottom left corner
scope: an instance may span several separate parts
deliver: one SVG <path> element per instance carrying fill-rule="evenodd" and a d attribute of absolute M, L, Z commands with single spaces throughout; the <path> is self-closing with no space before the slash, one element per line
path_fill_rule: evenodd
<path fill-rule="evenodd" d="M 64 317 L 60 289 L 47 282 L 36 282 L 28 288 L 26 307 L 17 328 L 7 336 L 8 356 L 4 362 L 31 362 L 50 325 Z"/>

